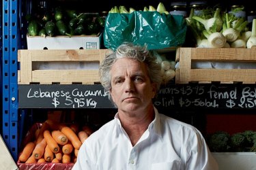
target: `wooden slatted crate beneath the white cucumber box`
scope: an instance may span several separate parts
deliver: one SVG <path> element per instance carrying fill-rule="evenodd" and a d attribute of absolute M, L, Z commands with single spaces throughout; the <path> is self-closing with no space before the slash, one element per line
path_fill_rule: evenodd
<path fill-rule="evenodd" d="M 38 62 L 100 63 L 108 50 L 18 50 L 18 84 L 96 84 L 98 69 L 36 69 Z"/>

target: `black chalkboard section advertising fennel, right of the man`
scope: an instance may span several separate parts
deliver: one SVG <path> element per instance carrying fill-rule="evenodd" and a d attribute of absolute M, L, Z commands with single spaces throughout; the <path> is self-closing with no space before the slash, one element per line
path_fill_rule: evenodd
<path fill-rule="evenodd" d="M 154 101 L 158 107 L 256 108 L 254 84 L 184 84 L 163 86 Z"/>

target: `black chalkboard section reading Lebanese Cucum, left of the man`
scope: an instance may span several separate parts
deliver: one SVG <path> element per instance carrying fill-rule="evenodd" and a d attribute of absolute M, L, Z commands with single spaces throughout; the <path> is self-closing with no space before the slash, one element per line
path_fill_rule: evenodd
<path fill-rule="evenodd" d="M 112 108 L 101 85 L 19 85 L 20 108 Z"/>

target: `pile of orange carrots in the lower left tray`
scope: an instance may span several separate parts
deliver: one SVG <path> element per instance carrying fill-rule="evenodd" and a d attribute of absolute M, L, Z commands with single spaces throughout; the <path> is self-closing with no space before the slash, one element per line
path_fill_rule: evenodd
<path fill-rule="evenodd" d="M 79 148 L 91 135 L 89 126 L 80 130 L 77 124 L 60 124 L 46 120 L 35 131 L 18 160 L 20 163 L 75 163 Z"/>

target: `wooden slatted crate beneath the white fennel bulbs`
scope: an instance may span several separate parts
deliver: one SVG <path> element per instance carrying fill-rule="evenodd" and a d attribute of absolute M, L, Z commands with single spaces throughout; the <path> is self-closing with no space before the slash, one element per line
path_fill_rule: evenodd
<path fill-rule="evenodd" d="M 176 84 L 256 82 L 256 69 L 193 69 L 191 63 L 197 61 L 255 63 L 256 48 L 177 48 L 175 71 Z"/>

